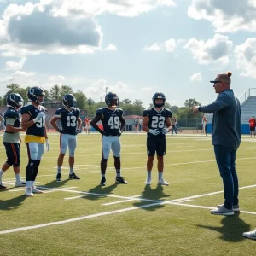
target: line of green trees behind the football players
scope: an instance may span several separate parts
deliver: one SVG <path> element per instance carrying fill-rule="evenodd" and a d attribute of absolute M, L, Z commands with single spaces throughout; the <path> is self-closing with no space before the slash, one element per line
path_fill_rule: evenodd
<path fill-rule="evenodd" d="M 6 93 L 3 96 L 0 96 L 0 106 L 5 106 L 5 98 L 10 93 L 19 93 L 20 96 L 24 99 L 24 102 L 28 102 L 27 99 L 27 90 L 30 87 L 22 88 L 19 84 L 9 84 L 6 86 Z M 61 102 L 62 98 L 67 93 L 72 93 L 77 100 L 77 108 L 85 111 L 88 116 L 94 116 L 96 113 L 96 109 L 103 108 L 106 106 L 104 99 L 103 102 L 95 102 L 91 98 L 87 98 L 84 92 L 81 90 L 73 91 L 72 87 L 69 85 L 58 85 L 55 84 L 50 90 L 44 90 L 45 92 L 45 105 L 49 105 L 51 102 Z M 195 99 L 189 99 L 184 102 L 183 107 L 172 106 L 169 102 L 166 102 L 165 107 L 171 109 L 173 115 L 177 117 L 177 119 L 182 118 L 195 118 L 194 114 L 192 113 L 190 107 L 192 106 L 201 106 L 200 102 L 197 102 Z M 124 110 L 125 115 L 142 115 L 143 109 L 152 107 L 153 104 L 150 106 L 143 106 L 143 102 L 139 99 L 134 100 L 133 102 L 130 99 L 123 99 L 120 100 L 119 108 Z M 197 117 L 201 117 L 201 113 L 197 114 Z"/>

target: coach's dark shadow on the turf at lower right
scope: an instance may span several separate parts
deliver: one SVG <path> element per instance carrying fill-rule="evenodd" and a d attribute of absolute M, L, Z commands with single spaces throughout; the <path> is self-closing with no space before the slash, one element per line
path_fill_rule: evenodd
<path fill-rule="evenodd" d="M 222 227 L 212 227 L 207 225 L 197 225 L 203 229 L 209 229 L 218 231 L 221 236 L 220 239 L 224 241 L 242 241 L 243 232 L 247 232 L 251 229 L 251 225 L 244 222 L 239 218 L 240 212 L 235 212 L 232 216 L 226 216 L 221 220 Z"/>

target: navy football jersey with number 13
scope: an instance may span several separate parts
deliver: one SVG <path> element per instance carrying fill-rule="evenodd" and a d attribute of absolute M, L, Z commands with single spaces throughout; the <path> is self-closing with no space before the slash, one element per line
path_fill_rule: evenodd
<path fill-rule="evenodd" d="M 79 108 L 73 108 L 71 111 L 67 110 L 67 108 L 56 110 L 55 116 L 61 119 L 62 133 L 76 134 L 79 114 Z"/>

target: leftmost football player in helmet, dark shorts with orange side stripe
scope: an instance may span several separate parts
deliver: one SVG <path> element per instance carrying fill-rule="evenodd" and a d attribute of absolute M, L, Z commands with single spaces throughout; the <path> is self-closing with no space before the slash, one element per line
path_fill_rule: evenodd
<path fill-rule="evenodd" d="M 23 99 L 17 93 L 10 93 L 6 97 L 7 110 L 4 113 L 5 132 L 3 134 L 3 145 L 7 156 L 6 162 L 0 171 L 0 189 L 6 189 L 2 183 L 3 173 L 13 166 L 16 187 L 26 186 L 26 183 L 20 179 L 20 113 L 19 109 L 23 106 Z"/>

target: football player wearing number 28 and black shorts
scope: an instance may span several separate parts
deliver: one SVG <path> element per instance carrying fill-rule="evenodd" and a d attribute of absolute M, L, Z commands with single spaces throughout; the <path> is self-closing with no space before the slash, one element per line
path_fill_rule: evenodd
<path fill-rule="evenodd" d="M 154 154 L 157 154 L 158 160 L 158 184 L 168 186 L 163 178 L 164 155 L 166 154 L 166 134 L 172 131 L 172 112 L 163 108 L 166 103 L 166 96 L 162 92 L 156 92 L 152 98 L 154 108 L 148 108 L 143 111 L 143 131 L 148 132 L 147 150 L 148 177 L 146 184 L 151 184 L 151 171 L 154 162 Z"/>

